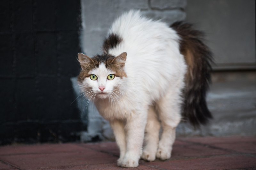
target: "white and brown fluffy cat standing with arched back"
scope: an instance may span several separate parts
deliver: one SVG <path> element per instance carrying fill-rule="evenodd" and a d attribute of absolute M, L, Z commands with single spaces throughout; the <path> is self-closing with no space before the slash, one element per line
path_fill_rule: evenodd
<path fill-rule="evenodd" d="M 197 127 L 212 118 L 205 102 L 212 54 L 202 36 L 191 24 L 169 27 L 132 10 L 112 24 L 102 54 L 78 53 L 78 83 L 113 129 L 118 166 L 169 159 L 181 119 Z"/>

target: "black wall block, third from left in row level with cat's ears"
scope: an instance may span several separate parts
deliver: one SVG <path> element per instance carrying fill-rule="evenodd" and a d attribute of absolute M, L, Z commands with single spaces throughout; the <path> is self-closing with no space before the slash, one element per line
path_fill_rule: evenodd
<path fill-rule="evenodd" d="M 56 75 L 58 70 L 56 34 L 43 32 L 36 34 L 37 73 Z"/>

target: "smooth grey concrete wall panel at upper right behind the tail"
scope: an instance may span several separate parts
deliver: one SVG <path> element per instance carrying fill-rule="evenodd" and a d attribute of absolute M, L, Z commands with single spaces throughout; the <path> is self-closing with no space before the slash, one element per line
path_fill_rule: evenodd
<path fill-rule="evenodd" d="M 215 70 L 255 70 L 255 0 L 189 0 L 185 12 L 206 33 Z"/>

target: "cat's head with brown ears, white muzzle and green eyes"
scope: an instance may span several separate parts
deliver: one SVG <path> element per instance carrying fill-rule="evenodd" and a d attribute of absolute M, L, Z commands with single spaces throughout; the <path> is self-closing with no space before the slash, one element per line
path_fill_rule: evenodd
<path fill-rule="evenodd" d="M 122 94 L 127 77 L 124 70 L 126 56 L 126 52 L 123 52 L 117 57 L 103 54 L 90 58 L 78 53 L 82 68 L 78 82 L 84 94 L 88 98 L 95 96 L 100 99 Z"/>

